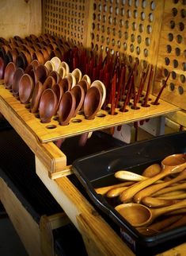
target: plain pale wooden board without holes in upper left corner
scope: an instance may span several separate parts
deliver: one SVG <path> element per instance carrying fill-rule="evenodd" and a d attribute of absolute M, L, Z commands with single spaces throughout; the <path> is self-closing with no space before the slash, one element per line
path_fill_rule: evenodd
<path fill-rule="evenodd" d="M 41 0 L 1 0 L 0 34 L 6 38 L 41 33 Z"/>

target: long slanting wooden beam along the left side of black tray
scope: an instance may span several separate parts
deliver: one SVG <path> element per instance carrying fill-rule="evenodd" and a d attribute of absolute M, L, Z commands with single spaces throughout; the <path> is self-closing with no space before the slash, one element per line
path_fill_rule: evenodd
<path fill-rule="evenodd" d="M 86 244 L 86 246 L 89 246 L 87 248 L 88 252 L 92 248 L 91 244 L 93 244 L 97 246 L 97 248 L 94 248 L 94 251 L 99 252 L 97 255 L 134 256 L 127 245 L 123 243 L 66 176 L 51 180 L 47 176 L 46 168 L 37 157 L 36 173 L 81 234 L 83 232 L 85 234 L 85 228 L 82 227 L 83 223 L 88 225 L 88 231 L 86 232 L 89 239 L 89 244 Z"/>

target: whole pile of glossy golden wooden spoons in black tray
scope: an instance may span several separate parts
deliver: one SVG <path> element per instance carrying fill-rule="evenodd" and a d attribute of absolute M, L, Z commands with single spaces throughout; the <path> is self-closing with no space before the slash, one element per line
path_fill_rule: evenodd
<path fill-rule="evenodd" d="M 150 165 L 142 176 L 118 171 L 115 176 L 122 183 L 96 188 L 96 192 L 109 198 L 118 196 L 123 204 L 116 205 L 116 211 L 140 232 L 158 232 L 164 226 L 168 230 L 169 224 L 177 227 L 186 223 L 185 168 L 186 154 L 173 154 L 165 157 L 161 165 Z M 166 215 L 165 219 L 158 219 L 162 215 Z"/>

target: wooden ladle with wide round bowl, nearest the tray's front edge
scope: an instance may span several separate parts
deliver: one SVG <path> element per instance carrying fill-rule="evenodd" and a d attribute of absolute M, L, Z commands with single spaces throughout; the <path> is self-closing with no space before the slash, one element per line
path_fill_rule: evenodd
<path fill-rule="evenodd" d="M 150 209 L 142 204 L 129 203 L 117 205 L 115 209 L 123 216 L 124 219 L 127 219 L 132 226 L 143 227 L 152 223 L 154 219 L 158 218 L 160 215 L 185 207 L 186 200 L 165 208 Z"/>

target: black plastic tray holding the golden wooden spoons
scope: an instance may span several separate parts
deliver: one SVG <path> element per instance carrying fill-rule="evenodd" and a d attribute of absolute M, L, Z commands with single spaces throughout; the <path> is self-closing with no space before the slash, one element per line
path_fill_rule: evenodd
<path fill-rule="evenodd" d="M 118 227 L 120 235 L 131 249 L 138 255 L 146 255 L 144 249 L 148 255 L 154 255 L 185 242 L 186 227 L 152 236 L 142 235 L 121 217 L 112 204 L 108 204 L 104 196 L 97 194 L 94 188 L 117 183 L 118 180 L 113 175 L 117 170 L 129 169 L 134 173 L 142 173 L 144 168 L 155 162 L 160 163 L 166 156 L 185 152 L 186 132 L 183 131 L 83 157 L 74 161 L 73 170 L 95 206 Z"/>

